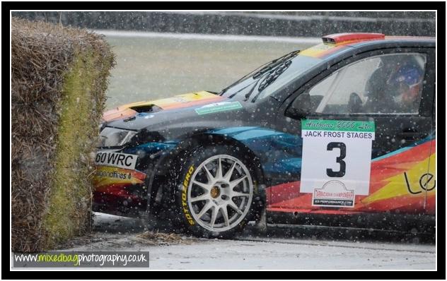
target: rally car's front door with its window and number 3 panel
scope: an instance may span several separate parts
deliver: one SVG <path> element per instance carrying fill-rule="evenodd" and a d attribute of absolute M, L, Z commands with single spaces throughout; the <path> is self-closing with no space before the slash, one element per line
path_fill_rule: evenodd
<path fill-rule="evenodd" d="M 271 207 L 424 213 L 433 85 L 434 49 L 400 48 L 359 54 L 296 90 L 277 124 L 301 140 L 301 169 L 271 189 Z"/>

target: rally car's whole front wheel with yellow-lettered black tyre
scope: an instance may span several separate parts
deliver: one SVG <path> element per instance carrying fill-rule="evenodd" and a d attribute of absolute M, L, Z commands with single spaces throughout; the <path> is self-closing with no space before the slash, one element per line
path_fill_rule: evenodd
<path fill-rule="evenodd" d="M 197 148 L 180 165 L 175 205 L 187 232 L 229 238 L 255 215 L 257 171 L 233 150 L 227 145 Z"/>

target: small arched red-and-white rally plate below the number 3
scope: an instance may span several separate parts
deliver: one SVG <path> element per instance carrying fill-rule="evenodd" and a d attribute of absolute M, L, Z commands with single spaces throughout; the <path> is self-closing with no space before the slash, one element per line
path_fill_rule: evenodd
<path fill-rule="evenodd" d="M 314 189 L 313 206 L 354 208 L 354 190 L 346 189 L 342 181 L 327 181 L 321 189 Z"/>

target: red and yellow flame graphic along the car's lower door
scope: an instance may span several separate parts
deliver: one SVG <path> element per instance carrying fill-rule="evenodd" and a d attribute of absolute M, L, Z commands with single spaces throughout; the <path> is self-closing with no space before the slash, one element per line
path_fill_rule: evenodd
<path fill-rule="evenodd" d="M 357 213 L 398 211 L 434 215 L 436 140 L 371 162 L 369 195 L 356 196 L 354 208 L 312 206 L 312 193 L 300 193 L 299 181 L 267 189 L 267 209 L 281 212 Z"/>

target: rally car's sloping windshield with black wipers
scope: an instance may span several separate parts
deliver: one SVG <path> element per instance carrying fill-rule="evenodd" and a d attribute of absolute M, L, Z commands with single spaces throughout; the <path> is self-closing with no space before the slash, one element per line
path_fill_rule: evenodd
<path fill-rule="evenodd" d="M 284 57 L 287 57 L 287 55 Z M 301 56 L 299 54 L 288 59 L 286 67 L 284 67 L 284 63 L 275 64 L 277 61 L 271 61 L 265 64 L 265 66 L 255 69 L 255 71 L 236 81 L 236 83 L 223 89 L 219 95 L 225 97 L 233 97 L 236 95 L 245 97 L 248 95 L 252 102 L 255 102 L 256 100 L 261 100 L 264 97 L 272 95 L 299 75 L 321 62 L 320 59 Z M 269 66 L 272 66 L 272 68 L 269 68 Z M 275 74 L 274 71 L 277 68 L 282 68 L 283 71 Z M 271 82 L 265 83 L 266 80 L 269 80 L 269 76 L 274 76 L 274 79 L 270 79 Z"/>

